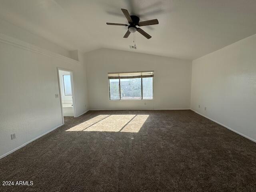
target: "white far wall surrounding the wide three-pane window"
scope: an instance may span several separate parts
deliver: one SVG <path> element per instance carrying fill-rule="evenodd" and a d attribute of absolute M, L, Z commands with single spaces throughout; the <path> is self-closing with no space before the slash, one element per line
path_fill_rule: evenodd
<path fill-rule="evenodd" d="M 191 61 L 112 49 L 85 58 L 90 109 L 190 108 Z M 149 70 L 154 70 L 154 100 L 109 100 L 108 72 Z"/>

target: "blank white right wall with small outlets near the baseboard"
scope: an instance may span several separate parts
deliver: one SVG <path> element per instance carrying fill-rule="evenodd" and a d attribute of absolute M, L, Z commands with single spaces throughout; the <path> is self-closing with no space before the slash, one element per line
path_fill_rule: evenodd
<path fill-rule="evenodd" d="M 193 61 L 191 108 L 256 141 L 256 35 Z"/>

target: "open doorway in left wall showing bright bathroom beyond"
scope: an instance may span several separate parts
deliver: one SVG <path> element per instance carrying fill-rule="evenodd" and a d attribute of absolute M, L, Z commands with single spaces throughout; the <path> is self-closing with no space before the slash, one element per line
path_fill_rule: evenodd
<path fill-rule="evenodd" d="M 76 117 L 72 70 L 58 68 L 62 117 Z"/>

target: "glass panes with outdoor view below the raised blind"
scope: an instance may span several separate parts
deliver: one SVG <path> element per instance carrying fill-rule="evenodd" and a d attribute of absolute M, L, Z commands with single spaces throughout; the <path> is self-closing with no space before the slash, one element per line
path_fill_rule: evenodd
<path fill-rule="evenodd" d="M 109 79 L 110 100 L 153 99 L 153 77 Z"/>

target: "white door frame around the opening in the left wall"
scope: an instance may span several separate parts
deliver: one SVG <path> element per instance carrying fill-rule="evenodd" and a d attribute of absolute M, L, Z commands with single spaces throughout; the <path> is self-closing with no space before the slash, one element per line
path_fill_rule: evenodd
<path fill-rule="evenodd" d="M 63 107 L 62 107 L 62 96 L 61 96 L 61 89 L 60 89 L 60 74 L 59 70 L 68 71 L 70 72 L 70 82 L 71 82 L 71 91 L 72 91 L 72 102 L 73 102 L 73 110 L 74 110 L 74 117 L 76 117 L 76 102 L 75 102 L 75 92 L 74 92 L 74 80 L 73 80 L 73 70 L 57 67 L 58 73 L 58 84 L 59 84 L 59 94 L 60 94 L 60 106 L 61 106 L 61 114 L 62 114 L 62 122 L 64 124 L 64 114 L 63 114 Z"/>

